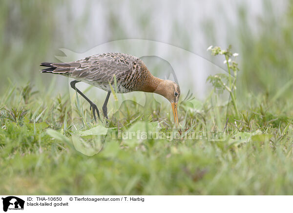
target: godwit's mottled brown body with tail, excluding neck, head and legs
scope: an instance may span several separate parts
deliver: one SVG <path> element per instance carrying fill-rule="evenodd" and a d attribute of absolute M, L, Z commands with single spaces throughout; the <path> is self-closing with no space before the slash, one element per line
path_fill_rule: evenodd
<path fill-rule="evenodd" d="M 103 53 L 70 63 L 42 63 L 42 72 L 65 75 L 110 91 L 117 81 L 116 92 L 137 91 L 151 76 L 144 62 L 125 53 Z"/>

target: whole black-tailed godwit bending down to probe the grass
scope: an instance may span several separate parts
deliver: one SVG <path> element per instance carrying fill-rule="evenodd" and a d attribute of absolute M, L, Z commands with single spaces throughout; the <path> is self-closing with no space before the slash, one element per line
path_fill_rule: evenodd
<path fill-rule="evenodd" d="M 85 82 L 107 91 L 103 113 L 107 116 L 107 103 L 111 93 L 111 86 L 114 88 L 114 76 L 117 82 L 117 93 L 128 93 L 134 91 L 153 92 L 167 98 L 173 109 L 174 120 L 177 128 L 178 114 L 177 103 L 180 97 L 180 88 L 175 82 L 163 80 L 153 76 L 147 69 L 146 64 L 139 58 L 125 53 L 104 53 L 86 57 L 84 59 L 69 63 L 42 63 L 41 66 L 49 68 L 42 69 L 42 73 L 53 73 L 64 75 L 75 79 L 70 83 L 93 109 L 95 121 L 97 120 L 95 111 L 100 113 L 98 107 L 90 101 L 75 84 Z"/>

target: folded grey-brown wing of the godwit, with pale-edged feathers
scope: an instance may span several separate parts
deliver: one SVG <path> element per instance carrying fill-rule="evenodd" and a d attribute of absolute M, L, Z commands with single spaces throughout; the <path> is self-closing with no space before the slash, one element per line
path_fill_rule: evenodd
<path fill-rule="evenodd" d="M 75 79 L 85 79 L 87 81 L 108 82 L 116 78 L 123 77 L 132 72 L 133 63 L 136 64 L 138 58 L 123 53 L 104 53 L 93 55 L 82 60 L 71 63 L 51 64 L 57 67 L 54 73 L 68 73 Z"/>

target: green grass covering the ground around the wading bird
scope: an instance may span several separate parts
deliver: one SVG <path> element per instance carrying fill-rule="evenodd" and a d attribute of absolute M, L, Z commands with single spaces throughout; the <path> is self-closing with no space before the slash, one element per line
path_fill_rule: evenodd
<path fill-rule="evenodd" d="M 237 121 L 228 106 L 224 142 L 106 137 L 100 153 L 86 156 L 72 146 L 71 136 L 102 125 L 94 124 L 86 102 L 80 98 L 72 106 L 84 116 L 74 120 L 80 124 L 74 130 L 69 95 L 52 98 L 50 91 L 9 86 L 0 99 L 0 194 L 293 194 L 292 109 L 265 97 L 250 101 L 250 108 L 238 106 L 242 116 Z M 201 113 L 207 126 L 216 128 L 210 103 L 202 103 Z M 170 107 L 163 108 L 164 121 L 156 114 L 137 117 L 139 107 L 130 105 L 133 113 L 121 118 L 119 128 L 144 129 L 154 122 L 168 127 L 173 118 Z M 217 116 L 225 111 L 219 108 Z M 200 118 L 188 113 L 179 113 L 184 128 L 202 129 Z M 91 146 L 101 135 L 81 138 Z"/>

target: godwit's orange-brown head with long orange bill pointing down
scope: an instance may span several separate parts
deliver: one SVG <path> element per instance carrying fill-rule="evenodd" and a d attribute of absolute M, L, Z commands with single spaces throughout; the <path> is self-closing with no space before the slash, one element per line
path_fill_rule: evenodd
<path fill-rule="evenodd" d="M 174 120 L 175 120 L 177 128 L 179 128 L 178 112 L 177 112 L 177 104 L 180 97 L 179 85 L 170 80 L 164 80 L 158 85 L 157 90 L 155 92 L 167 98 L 167 100 L 171 103 Z"/>

